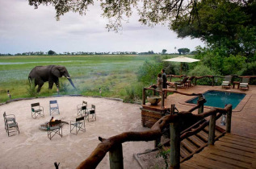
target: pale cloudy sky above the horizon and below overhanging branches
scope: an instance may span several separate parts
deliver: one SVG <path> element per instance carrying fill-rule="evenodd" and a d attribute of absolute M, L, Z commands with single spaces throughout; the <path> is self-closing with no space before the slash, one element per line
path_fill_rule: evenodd
<path fill-rule="evenodd" d="M 97 5 L 98 4 L 98 5 Z M 86 16 L 69 12 L 55 19 L 53 6 L 34 9 L 26 0 L 0 0 L 0 53 L 20 52 L 177 52 L 204 46 L 199 39 L 178 39 L 165 26 L 141 25 L 136 13 L 123 31 L 108 31 L 99 3 L 89 6 Z M 176 47 L 176 50 L 174 49 Z"/>

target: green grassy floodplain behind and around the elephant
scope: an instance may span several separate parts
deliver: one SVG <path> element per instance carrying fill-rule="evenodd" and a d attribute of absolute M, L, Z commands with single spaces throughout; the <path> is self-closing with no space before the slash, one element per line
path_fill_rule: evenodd
<path fill-rule="evenodd" d="M 30 97 L 27 76 L 31 69 L 43 65 L 63 65 L 72 77 L 74 90 L 65 77 L 60 78 L 62 94 L 82 94 L 124 98 L 125 88 L 137 83 L 136 72 L 145 60 L 153 56 L 1 56 L 0 57 L 0 102 L 11 98 Z M 48 82 L 39 97 L 57 94 L 56 86 L 48 90 Z"/>

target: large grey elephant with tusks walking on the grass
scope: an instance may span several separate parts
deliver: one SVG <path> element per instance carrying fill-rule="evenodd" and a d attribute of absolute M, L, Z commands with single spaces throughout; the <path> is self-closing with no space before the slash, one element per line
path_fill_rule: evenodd
<path fill-rule="evenodd" d="M 31 80 L 35 80 L 35 87 L 38 85 L 37 93 L 40 93 L 40 90 L 46 81 L 48 81 L 49 84 L 48 89 L 52 89 L 53 83 L 55 83 L 58 88 L 59 77 L 61 76 L 65 76 L 73 88 L 76 89 L 76 87 L 73 85 L 73 81 L 69 76 L 68 70 L 65 68 L 65 66 L 61 65 L 36 66 L 29 73 L 28 80 L 30 82 Z"/>

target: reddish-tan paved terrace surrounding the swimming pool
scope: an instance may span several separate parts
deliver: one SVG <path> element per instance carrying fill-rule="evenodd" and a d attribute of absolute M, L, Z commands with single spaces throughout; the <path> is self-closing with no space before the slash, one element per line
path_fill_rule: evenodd
<path fill-rule="evenodd" d="M 183 93 L 205 93 L 208 90 L 246 93 L 246 97 L 239 103 L 239 105 L 237 105 L 236 109 L 233 109 L 231 133 L 256 138 L 256 86 L 251 85 L 250 89 L 246 91 L 240 89 L 222 89 L 221 86 L 203 85 L 196 85 L 189 89 L 178 89 L 179 92 Z M 178 111 L 187 111 L 188 109 L 191 109 L 191 106 L 195 106 L 186 103 L 186 101 L 191 98 L 193 97 L 174 93 L 166 98 L 165 108 L 170 108 L 171 104 L 175 104 Z M 149 103 L 146 105 L 149 105 Z M 160 104 L 157 105 L 159 108 L 160 106 Z M 208 109 L 211 109 L 211 107 L 204 106 L 204 111 L 207 111 Z M 221 127 L 220 119 L 216 122 L 216 125 Z M 225 129 L 225 126 L 223 126 L 223 128 Z"/>

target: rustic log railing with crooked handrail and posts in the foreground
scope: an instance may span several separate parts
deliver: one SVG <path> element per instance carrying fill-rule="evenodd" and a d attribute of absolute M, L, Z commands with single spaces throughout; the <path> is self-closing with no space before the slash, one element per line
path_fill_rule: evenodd
<path fill-rule="evenodd" d="M 191 94 L 187 95 L 195 96 Z M 204 129 L 203 126 L 199 126 L 197 129 L 192 131 L 189 130 L 182 133 L 181 135 L 179 130 L 181 122 L 199 122 L 199 120 L 211 116 L 209 122 L 208 144 L 214 144 L 216 119 L 220 117 L 221 114 L 227 114 L 226 131 L 230 132 L 231 130 L 232 105 L 227 105 L 225 109 L 213 108 L 205 113 L 200 112 L 199 114 L 192 114 L 192 111 L 198 109 L 201 106 L 204 106 L 204 98 L 201 97 L 200 99 L 201 101 L 198 102 L 198 105 L 196 105 L 194 108 L 190 109 L 187 112 L 183 111 L 178 114 L 170 114 L 162 117 L 148 131 L 124 132 L 111 138 L 99 137 L 99 145 L 94 149 L 94 151 L 87 159 L 80 163 L 77 168 L 96 168 L 101 160 L 104 158 L 104 156 L 107 154 L 107 152 L 109 152 L 110 168 L 122 169 L 124 168 L 122 143 L 138 141 L 148 142 L 153 140 L 159 142 L 159 138 L 161 138 L 162 136 L 162 130 L 167 126 L 170 127 L 170 166 L 176 168 L 179 167 L 180 141 Z"/>

